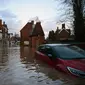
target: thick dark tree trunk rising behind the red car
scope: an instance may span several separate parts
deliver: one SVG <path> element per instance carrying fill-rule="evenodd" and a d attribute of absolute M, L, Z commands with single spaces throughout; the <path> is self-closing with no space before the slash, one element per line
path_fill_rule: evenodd
<path fill-rule="evenodd" d="M 76 41 L 85 41 L 82 0 L 73 0 L 74 33 Z"/>

